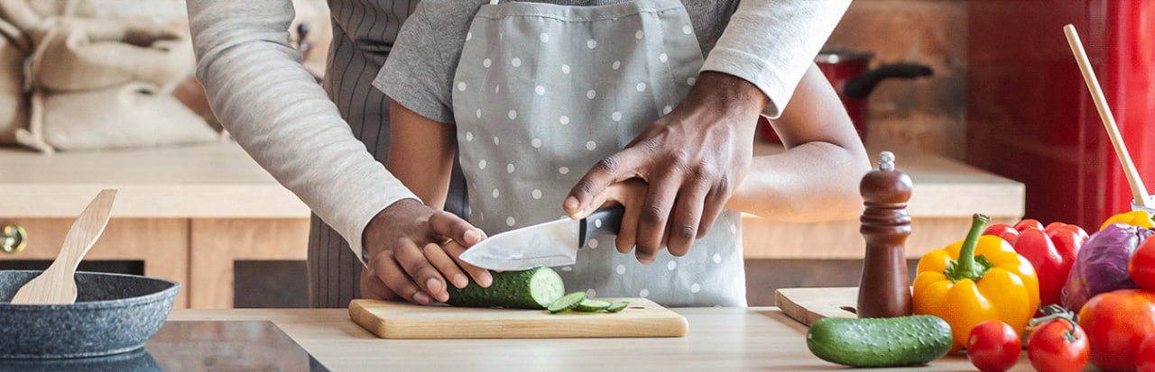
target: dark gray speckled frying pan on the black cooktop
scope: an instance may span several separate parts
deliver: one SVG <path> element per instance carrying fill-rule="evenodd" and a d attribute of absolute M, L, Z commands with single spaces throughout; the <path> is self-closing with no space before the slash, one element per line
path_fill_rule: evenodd
<path fill-rule="evenodd" d="M 180 283 L 137 275 L 76 273 L 76 303 L 13 305 L 40 271 L 0 271 L 0 359 L 106 356 L 137 350 L 172 311 Z"/>

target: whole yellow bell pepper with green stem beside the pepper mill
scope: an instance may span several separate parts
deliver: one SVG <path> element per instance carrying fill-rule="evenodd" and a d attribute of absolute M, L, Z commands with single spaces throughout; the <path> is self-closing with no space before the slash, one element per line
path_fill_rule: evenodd
<path fill-rule="evenodd" d="M 1001 320 L 1019 334 L 1038 309 L 1035 268 L 1001 237 L 982 235 L 989 217 L 975 214 L 967 238 L 918 260 L 912 311 L 951 325 L 951 352 L 967 344 L 983 320 Z"/>

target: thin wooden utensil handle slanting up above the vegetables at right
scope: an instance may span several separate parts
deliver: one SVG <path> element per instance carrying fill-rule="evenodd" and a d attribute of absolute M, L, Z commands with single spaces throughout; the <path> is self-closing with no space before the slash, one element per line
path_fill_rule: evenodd
<path fill-rule="evenodd" d="M 1131 161 L 1127 145 L 1123 143 L 1123 137 L 1119 135 L 1119 127 L 1115 123 L 1115 116 L 1111 114 L 1111 107 L 1108 107 L 1103 89 L 1098 86 L 1098 78 L 1095 77 L 1095 71 L 1090 69 L 1090 60 L 1087 59 L 1087 52 L 1083 51 L 1082 41 L 1079 40 L 1075 26 L 1067 24 L 1063 26 L 1063 32 L 1067 35 L 1067 44 L 1071 45 L 1071 52 L 1074 53 L 1075 61 L 1079 62 L 1079 69 L 1082 70 L 1083 79 L 1087 81 L 1087 89 L 1090 90 L 1090 96 L 1095 100 L 1095 107 L 1098 108 L 1098 117 L 1103 120 L 1103 126 L 1106 127 L 1106 135 L 1111 137 L 1111 144 L 1115 145 L 1115 154 L 1119 158 L 1119 162 L 1123 164 L 1123 172 L 1127 176 L 1127 183 L 1131 184 L 1131 196 L 1134 198 L 1133 205 L 1155 210 L 1155 203 L 1150 202 L 1147 195 L 1147 187 L 1143 185 L 1143 180 L 1139 177 L 1135 164 Z"/>

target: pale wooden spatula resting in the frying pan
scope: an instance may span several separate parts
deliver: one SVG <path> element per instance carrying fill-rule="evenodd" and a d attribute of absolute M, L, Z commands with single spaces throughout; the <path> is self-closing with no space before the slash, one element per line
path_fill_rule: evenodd
<path fill-rule="evenodd" d="M 65 235 L 65 243 L 60 246 L 60 253 L 52 261 L 52 266 L 21 287 L 16 291 L 16 296 L 12 298 L 12 303 L 70 304 L 76 302 L 76 279 L 74 278 L 76 266 L 96 243 L 100 233 L 104 233 L 104 227 L 109 225 L 112 199 L 116 196 L 117 190 L 102 190 L 84 207 L 84 212 L 81 212 L 80 218 L 68 229 L 68 235 Z"/>

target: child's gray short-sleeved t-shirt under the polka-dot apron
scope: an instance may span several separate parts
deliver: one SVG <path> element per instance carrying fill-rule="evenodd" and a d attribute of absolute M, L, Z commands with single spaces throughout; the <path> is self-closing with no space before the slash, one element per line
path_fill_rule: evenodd
<path fill-rule="evenodd" d="M 628 0 L 535 0 L 567 6 L 598 6 Z M 683 0 L 702 53 L 709 55 L 738 8 L 738 0 Z M 453 76 L 465 33 L 477 9 L 489 0 L 424 0 L 397 36 L 397 44 L 373 85 L 422 116 L 454 123 Z M 706 56 L 703 55 L 703 58 Z"/>

